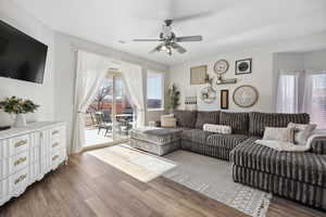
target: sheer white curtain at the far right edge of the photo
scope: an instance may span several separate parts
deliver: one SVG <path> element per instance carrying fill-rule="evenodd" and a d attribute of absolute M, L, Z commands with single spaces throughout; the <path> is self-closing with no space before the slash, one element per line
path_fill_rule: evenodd
<path fill-rule="evenodd" d="M 306 71 L 303 112 L 310 114 L 311 123 L 326 129 L 326 71 Z"/>

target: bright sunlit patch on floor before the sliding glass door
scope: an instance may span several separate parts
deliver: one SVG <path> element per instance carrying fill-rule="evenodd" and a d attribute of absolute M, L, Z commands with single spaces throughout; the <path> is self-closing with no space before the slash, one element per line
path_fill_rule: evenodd
<path fill-rule="evenodd" d="M 88 153 L 143 182 L 151 181 L 176 166 L 168 159 L 130 149 L 127 144 Z"/>

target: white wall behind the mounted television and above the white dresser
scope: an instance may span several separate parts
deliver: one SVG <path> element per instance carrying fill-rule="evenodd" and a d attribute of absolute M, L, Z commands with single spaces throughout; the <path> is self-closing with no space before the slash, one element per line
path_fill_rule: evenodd
<path fill-rule="evenodd" d="M 0 1 L 0 20 L 36 38 L 49 47 L 42 85 L 0 77 L 0 99 L 17 95 L 40 105 L 37 113 L 27 115 L 27 120 L 52 120 L 54 118 L 54 31 L 29 15 L 13 1 Z M 10 125 L 12 119 L 0 112 L 0 126 Z"/>

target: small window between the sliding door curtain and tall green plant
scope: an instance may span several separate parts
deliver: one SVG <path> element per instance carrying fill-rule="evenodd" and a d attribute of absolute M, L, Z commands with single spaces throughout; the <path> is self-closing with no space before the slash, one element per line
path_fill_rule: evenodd
<path fill-rule="evenodd" d="M 147 108 L 163 108 L 164 75 L 162 73 L 147 73 Z"/>

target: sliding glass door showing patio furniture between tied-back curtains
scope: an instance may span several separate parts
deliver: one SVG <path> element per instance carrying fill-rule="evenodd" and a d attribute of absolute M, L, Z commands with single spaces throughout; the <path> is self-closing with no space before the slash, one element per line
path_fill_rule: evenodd
<path fill-rule="evenodd" d="M 123 142 L 134 123 L 133 104 L 120 73 L 109 73 L 86 114 L 86 146 Z"/>

